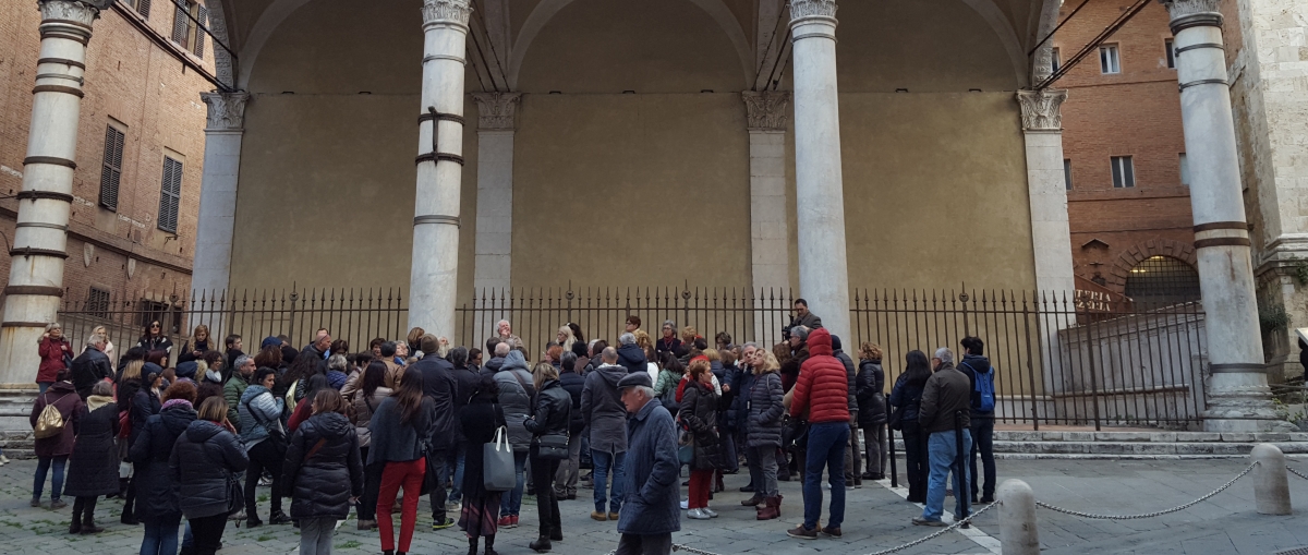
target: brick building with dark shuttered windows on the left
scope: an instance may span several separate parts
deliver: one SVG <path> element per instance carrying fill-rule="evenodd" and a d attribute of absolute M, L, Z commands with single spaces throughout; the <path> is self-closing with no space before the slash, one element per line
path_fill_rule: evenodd
<path fill-rule="evenodd" d="M 191 284 L 217 47 L 195 1 L 120 0 L 88 45 L 64 298 L 167 302 Z M 184 12 L 182 5 L 184 5 Z M 8 281 L 39 58 L 35 1 L 0 3 L 0 279 Z M 188 17 L 190 16 L 190 17 Z M 192 18 L 194 17 L 194 18 Z M 144 305 L 152 306 L 152 305 Z M 161 306 L 153 305 L 154 309 Z"/>

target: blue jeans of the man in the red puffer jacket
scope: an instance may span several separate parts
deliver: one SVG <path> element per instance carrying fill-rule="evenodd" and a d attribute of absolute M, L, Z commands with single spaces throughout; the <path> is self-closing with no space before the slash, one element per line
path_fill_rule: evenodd
<path fill-rule="evenodd" d="M 821 469 L 827 467 L 831 483 L 831 516 L 827 526 L 840 528 L 845 521 L 845 448 L 849 444 L 849 421 L 827 421 L 808 427 L 808 449 L 804 458 L 804 529 L 818 528 L 821 518 Z M 756 490 L 759 484 L 753 486 Z"/>

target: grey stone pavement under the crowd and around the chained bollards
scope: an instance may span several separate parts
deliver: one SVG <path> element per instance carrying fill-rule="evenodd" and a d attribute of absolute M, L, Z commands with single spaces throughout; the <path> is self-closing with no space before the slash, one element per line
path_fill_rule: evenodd
<path fill-rule="evenodd" d="M 1226 483 L 1248 465 L 1244 459 L 1216 461 L 999 461 L 999 479 L 1020 478 L 1031 483 L 1037 499 L 1069 509 L 1096 513 L 1143 513 L 1190 501 Z M 1292 461 L 1291 466 L 1308 470 L 1308 462 Z M 12 555 L 27 554 L 136 554 L 141 528 L 118 522 L 122 501 L 102 500 L 97 507 L 97 524 L 106 531 L 94 537 L 68 535 L 71 508 L 59 510 L 27 507 L 31 496 L 34 461 L 16 461 L 0 467 L 0 546 Z M 743 469 L 742 469 L 743 470 Z M 799 483 L 782 483 L 785 501 L 782 518 L 760 522 L 753 509 L 739 505 L 747 493 L 736 492 L 748 476 L 727 476 L 729 492 L 718 493 L 710 507 L 721 512 L 710 521 L 681 521 L 675 543 L 731 555 L 764 554 L 867 554 L 893 547 L 927 535 L 935 529 L 912 526 L 909 520 L 920 509 L 903 500 L 888 483 L 866 483 L 848 492 L 845 535 L 798 541 L 785 530 L 802 520 L 803 503 Z M 1290 476 L 1291 496 L 1308 500 L 1308 480 Z M 47 484 L 48 491 L 48 484 Z M 684 490 L 683 490 L 684 491 Z M 827 492 L 829 493 L 829 492 Z M 612 522 L 590 520 L 591 490 L 579 490 L 581 499 L 561 501 L 564 542 L 555 543 L 559 554 L 603 555 L 617 545 Z M 267 488 L 259 491 L 260 513 L 267 517 Z M 72 501 L 65 500 L 65 501 Z M 501 530 L 496 548 L 506 555 L 530 554 L 527 542 L 536 535 L 534 500 L 523 503 L 522 525 Z M 288 505 L 289 507 L 289 505 Z M 424 500 L 424 507 L 426 507 Z M 952 499 L 947 500 L 952 507 Z M 1247 476 L 1223 493 L 1190 509 L 1148 520 L 1091 521 L 1039 510 L 1040 534 L 1048 554 L 1269 554 L 1308 546 L 1308 530 L 1296 516 L 1270 517 L 1254 512 L 1253 480 Z M 335 552 L 375 554 L 375 531 L 354 528 L 353 517 L 336 531 Z M 968 535 L 965 535 L 967 533 Z M 989 534 L 989 535 L 988 535 Z M 974 530 L 950 531 L 903 554 L 991 554 L 998 552 L 998 510 L 977 518 Z M 991 538 L 993 537 L 993 538 Z M 290 554 L 298 548 L 294 528 L 271 526 L 246 529 L 228 526 L 222 555 Z M 420 510 L 413 554 L 466 552 L 462 531 L 430 530 L 430 513 Z"/>

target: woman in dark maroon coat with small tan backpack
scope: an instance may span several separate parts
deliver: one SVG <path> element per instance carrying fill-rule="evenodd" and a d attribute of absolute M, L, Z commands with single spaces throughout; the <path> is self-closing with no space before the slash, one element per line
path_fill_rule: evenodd
<path fill-rule="evenodd" d="M 55 374 L 55 382 L 44 393 L 37 395 L 31 406 L 31 429 L 37 436 L 37 476 L 31 487 L 31 507 L 41 507 L 41 493 L 46 486 L 46 474 L 51 466 L 55 474 L 50 478 L 50 508 L 68 507 L 63 501 L 64 465 L 73 452 L 77 424 L 86 403 L 73 387 L 72 370 L 64 368 Z M 48 408 L 48 410 L 47 410 Z"/>

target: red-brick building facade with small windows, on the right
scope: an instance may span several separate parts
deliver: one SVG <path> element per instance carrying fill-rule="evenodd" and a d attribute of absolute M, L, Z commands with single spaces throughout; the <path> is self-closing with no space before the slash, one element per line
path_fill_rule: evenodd
<path fill-rule="evenodd" d="M 1130 4 L 1090 0 L 1054 38 L 1059 58 L 1073 58 Z M 1059 17 L 1076 5 L 1065 4 Z M 1180 94 L 1164 46 L 1169 38 L 1167 10 L 1151 3 L 1105 42 L 1117 45 L 1121 73 L 1101 73 L 1099 52 L 1091 52 L 1054 84 L 1069 90 L 1062 107 L 1063 156 L 1071 160 L 1067 216 L 1074 271 L 1103 279 L 1117 292 L 1125 291 L 1121 267 L 1142 253 L 1194 263 L 1189 190 L 1180 175 L 1179 154 L 1185 152 Z M 1113 187 L 1113 156 L 1133 157 L 1135 187 Z"/>

